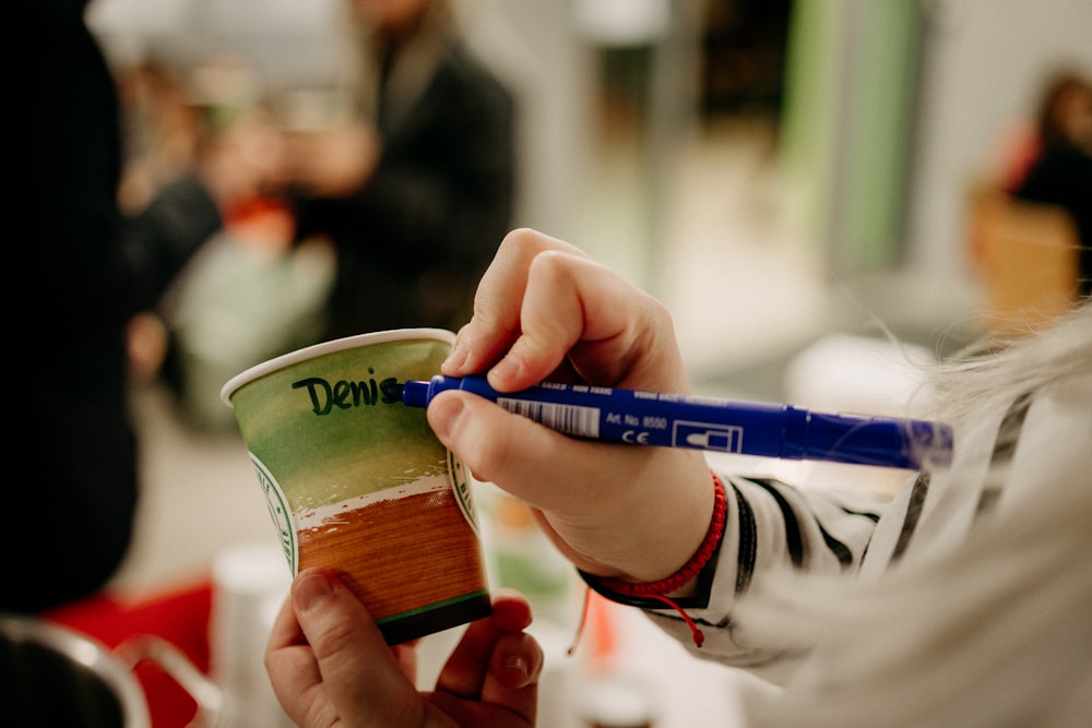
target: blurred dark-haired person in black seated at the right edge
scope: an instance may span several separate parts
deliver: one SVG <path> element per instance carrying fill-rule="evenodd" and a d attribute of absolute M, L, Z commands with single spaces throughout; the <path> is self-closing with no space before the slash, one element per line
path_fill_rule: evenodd
<path fill-rule="evenodd" d="M 1087 297 L 1092 294 L 1092 82 L 1087 77 L 1066 71 L 1046 84 L 1028 157 L 1012 172 L 1009 189 L 1020 200 L 1058 205 L 1072 218 Z"/>

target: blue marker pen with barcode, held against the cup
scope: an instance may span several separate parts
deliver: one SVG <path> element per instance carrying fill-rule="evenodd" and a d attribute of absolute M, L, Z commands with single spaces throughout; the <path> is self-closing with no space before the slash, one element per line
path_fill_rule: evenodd
<path fill-rule="evenodd" d="M 947 425 L 812 413 L 782 404 L 551 382 L 506 393 L 484 377 L 410 381 L 402 401 L 427 407 L 448 390 L 472 392 L 558 432 L 590 440 L 906 469 L 951 463 L 953 438 Z"/>

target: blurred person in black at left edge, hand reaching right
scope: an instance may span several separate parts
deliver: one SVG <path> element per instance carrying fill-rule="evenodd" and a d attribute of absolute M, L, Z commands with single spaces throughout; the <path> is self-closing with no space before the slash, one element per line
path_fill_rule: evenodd
<path fill-rule="evenodd" d="M 117 88 L 84 23 L 86 0 L 17 11 L 33 59 L 14 80 L 8 169 L 20 420 L 4 487 L 7 580 L 0 609 L 39 611 L 95 593 L 129 547 L 138 500 L 127 402 L 127 333 L 270 171 L 262 138 L 226 139 L 191 176 L 131 216 L 119 208 Z"/>

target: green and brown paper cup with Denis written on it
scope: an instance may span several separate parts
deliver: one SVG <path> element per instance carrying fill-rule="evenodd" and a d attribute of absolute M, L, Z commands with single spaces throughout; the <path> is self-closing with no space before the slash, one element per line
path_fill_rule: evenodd
<path fill-rule="evenodd" d="M 453 342 L 436 329 L 341 338 L 248 369 L 221 393 L 292 573 L 339 572 L 390 644 L 490 610 L 467 474 L 425 410 L 401 401 Z"/>

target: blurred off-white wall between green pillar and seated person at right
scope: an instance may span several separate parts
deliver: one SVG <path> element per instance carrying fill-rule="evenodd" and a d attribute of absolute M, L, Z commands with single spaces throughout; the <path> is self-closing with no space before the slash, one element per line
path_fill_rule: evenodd
<path fill-rule="evenodd" d="M 917 152 L 909 263 L 930 277 L 965 271 L 968 186 L 992 165 L 1002 135 L 1033 114 L 1061 63 L 1092 75 L 1092 0 L 924 0 Z"/>

